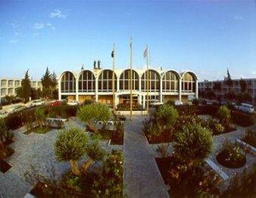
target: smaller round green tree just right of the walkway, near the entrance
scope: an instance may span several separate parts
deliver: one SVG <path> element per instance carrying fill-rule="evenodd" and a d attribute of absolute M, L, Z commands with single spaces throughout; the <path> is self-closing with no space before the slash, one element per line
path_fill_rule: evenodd
<path fill-rule="evenodd" d="M 179 117 L 178 111 L 171 105 L 161 105 L 155 113 L 155 117 L 160 125 L 166 128 L 172 128 Z"/>

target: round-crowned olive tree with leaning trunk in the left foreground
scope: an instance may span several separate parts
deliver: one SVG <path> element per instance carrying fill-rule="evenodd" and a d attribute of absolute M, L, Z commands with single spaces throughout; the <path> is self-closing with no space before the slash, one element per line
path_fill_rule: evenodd
<path fill-rule="evenodd" d="M 77 161 L 86 153 L 88 137 L 80 128 L 61 131 L 55 141 L 58 161 L 69 161 L 74 175 L 80 175 Z"/>

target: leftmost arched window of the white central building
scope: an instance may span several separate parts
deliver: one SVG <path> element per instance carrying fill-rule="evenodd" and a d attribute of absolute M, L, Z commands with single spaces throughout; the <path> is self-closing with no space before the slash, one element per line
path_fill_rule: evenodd
<path fill-rule="evenodd" d="M 76 92 L 76 79 L 73 73 L 65 72 L 61 78 L 61 92 L 75 93 Z"/>

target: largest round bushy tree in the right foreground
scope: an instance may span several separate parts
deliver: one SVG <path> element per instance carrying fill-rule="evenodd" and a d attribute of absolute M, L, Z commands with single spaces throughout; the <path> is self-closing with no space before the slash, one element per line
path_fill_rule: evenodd
<path fill-rule="evenodd" d="M 198 166 L 211 153 L 211 131 L 196 123 L 186 124 L 175 134 L 173 147 L 175 155 L 187 166 Z"/>

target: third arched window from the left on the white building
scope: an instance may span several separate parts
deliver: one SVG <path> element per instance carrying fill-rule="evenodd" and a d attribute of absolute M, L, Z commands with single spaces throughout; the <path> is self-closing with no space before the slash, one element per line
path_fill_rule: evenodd
<path fill-rule="evenodd" d="M 112 70 L 103 70 L 98 76 L 98 92 L 112 92 Z M 114 74 L 114 87 L 117 90 L 117 76 Z"/>

